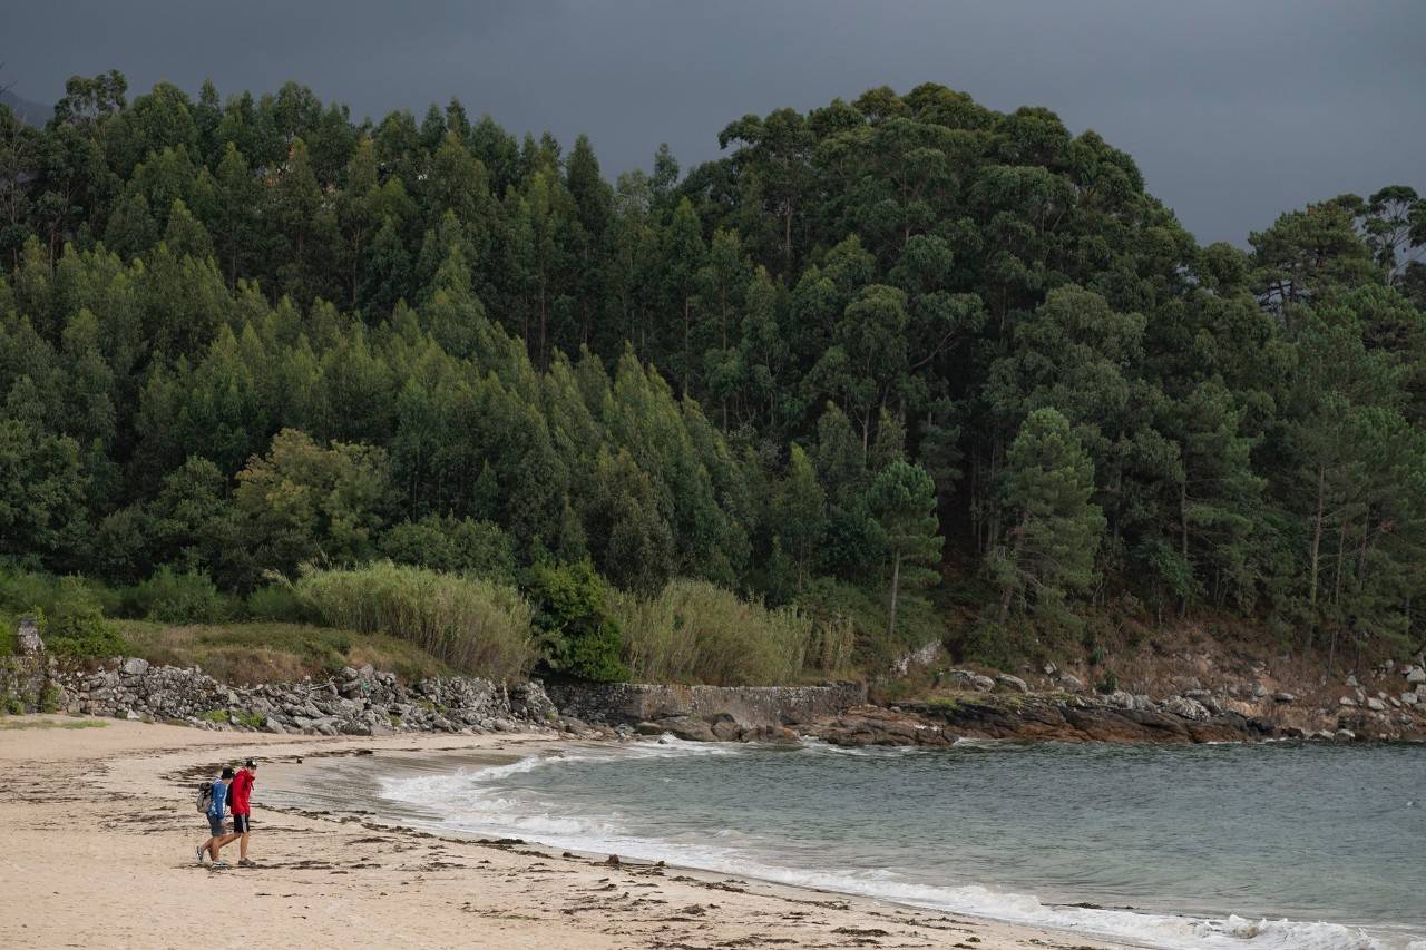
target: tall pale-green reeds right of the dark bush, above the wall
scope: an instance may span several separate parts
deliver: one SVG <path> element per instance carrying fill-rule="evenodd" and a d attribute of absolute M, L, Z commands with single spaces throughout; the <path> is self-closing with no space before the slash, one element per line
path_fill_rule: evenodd
<path fill-rule="evenodd" d="M 793 683 L 809 649 L 820 648 L 816 625 L 797 609 L 767 609 L 704 581 L 670 581 L 649 599 L 620 593 L 613 611 L 636 679 Z"/>

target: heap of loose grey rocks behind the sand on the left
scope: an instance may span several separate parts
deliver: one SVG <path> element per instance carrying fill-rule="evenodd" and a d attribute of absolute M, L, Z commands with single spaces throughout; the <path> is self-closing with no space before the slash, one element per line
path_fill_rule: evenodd
<path fill-rule="evenodd" d="M 57 672 L 58 712 L 178 720 L 204 729 L 322 736 L 394 732 L 513 732 L 558 717 L 538 682 L 505 686 L 451 676 L 402 685 L 371 666 L 324 680 L 235 688 L 198 668 L 151 666 L 140 658 L 97 670 Z"/>

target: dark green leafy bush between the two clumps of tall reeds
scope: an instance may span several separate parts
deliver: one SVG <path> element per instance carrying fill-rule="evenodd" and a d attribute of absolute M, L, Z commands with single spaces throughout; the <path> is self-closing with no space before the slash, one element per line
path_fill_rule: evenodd
<path fill-rule="evenodd" d="M 525 592 L 535 608 L 543 662 L 552 670 L 602 683 L 629 679 L 619 658 L 623 638 L 593 565 L 535 565 Z"/>

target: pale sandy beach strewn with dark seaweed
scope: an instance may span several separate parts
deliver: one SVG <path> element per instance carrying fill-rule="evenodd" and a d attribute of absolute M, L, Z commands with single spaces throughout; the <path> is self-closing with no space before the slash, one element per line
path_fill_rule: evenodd
<path fill-rule="evenodd" d="M 60 727 L 77 722 L 104 726 Z M 21 723 L 44 727 L 9 727 Z M 250 854 L 258 867 L 212 872 L 194 862 L 207 832 L 191 776 L 220 763 L 552 740 L 314 739 L 0 719 L 0 946 L 1121 946 L 723 874 L 436 837 L 368 817 L 274 810 L 262 805 L 261 772 Z M 235 862 L 237 846 L 224 856 Z"/>

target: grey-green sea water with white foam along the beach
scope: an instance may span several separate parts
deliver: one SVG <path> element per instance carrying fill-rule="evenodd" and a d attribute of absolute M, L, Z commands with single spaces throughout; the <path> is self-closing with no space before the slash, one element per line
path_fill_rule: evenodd
<path fill-rule="evenodd" d="M 672 739 L 324 759 L 268 789 L 1164 950 L 1426 950 L 1426 749 Z"/>

